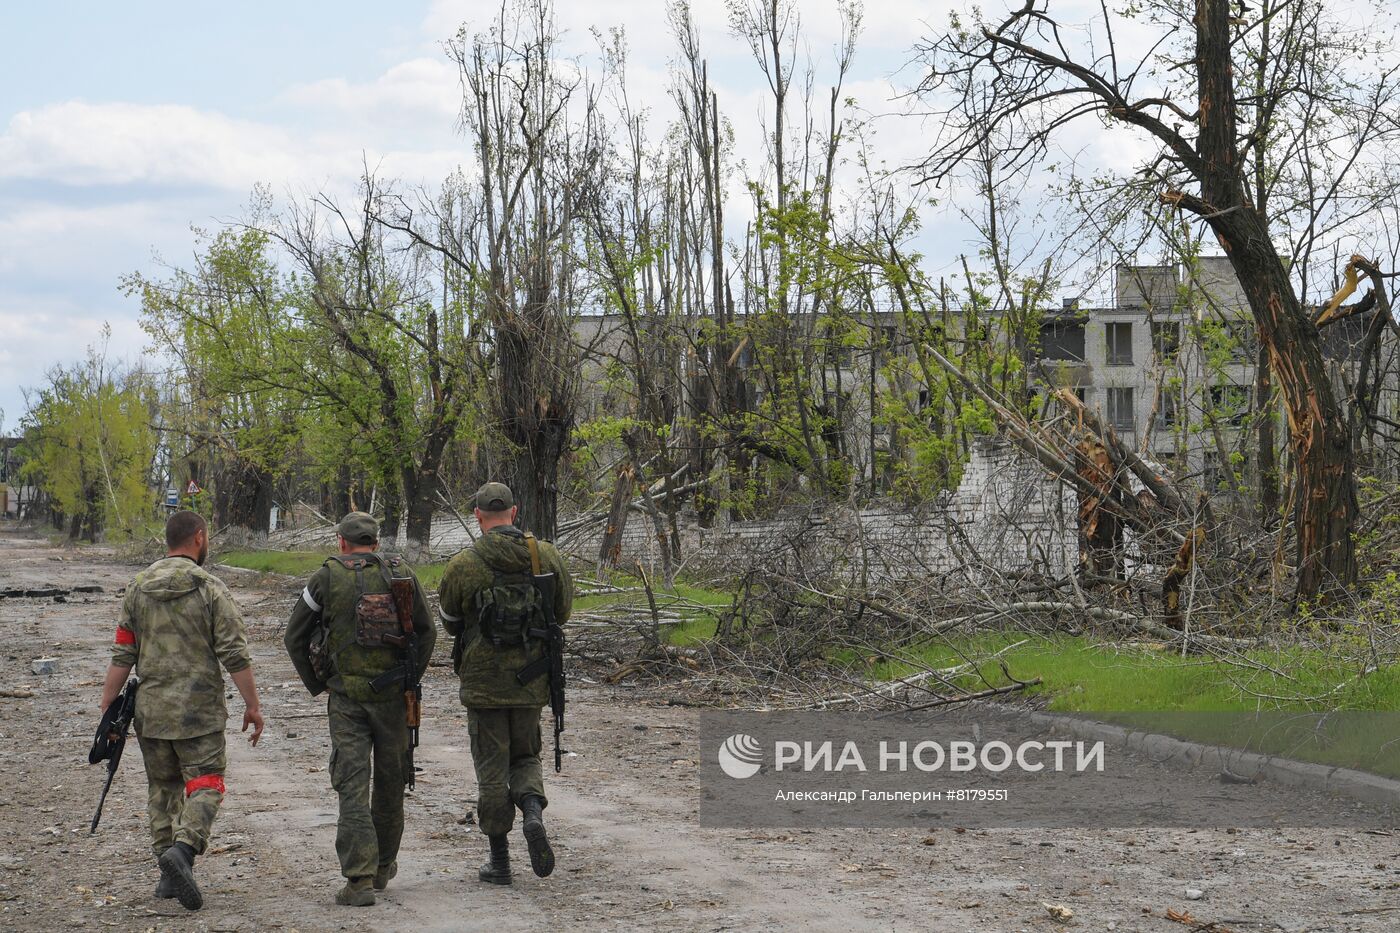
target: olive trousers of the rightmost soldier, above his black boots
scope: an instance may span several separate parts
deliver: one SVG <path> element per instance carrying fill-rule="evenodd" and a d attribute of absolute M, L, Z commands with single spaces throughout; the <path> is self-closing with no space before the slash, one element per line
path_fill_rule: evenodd
<path fill-rule="evenodd" d="M 540 706 L 470 707 L 466 730 L 476 766 L 476 814 L 482 832 L 504 836 L 515 825 L 515 806 L 531 794 L 545 800 L 539 768 Z"/>

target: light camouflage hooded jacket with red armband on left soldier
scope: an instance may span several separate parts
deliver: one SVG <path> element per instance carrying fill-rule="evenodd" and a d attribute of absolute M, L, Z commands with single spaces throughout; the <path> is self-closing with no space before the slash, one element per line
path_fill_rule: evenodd
<path fill-rule="evenodd" d="M 224 731 L 224 677 L 252 664 L 244 618 L 224 581 L 189 558 L 162 558 L 126 587 L 112 664 L 134 667 L 136 733 L 195 738 Z"/>

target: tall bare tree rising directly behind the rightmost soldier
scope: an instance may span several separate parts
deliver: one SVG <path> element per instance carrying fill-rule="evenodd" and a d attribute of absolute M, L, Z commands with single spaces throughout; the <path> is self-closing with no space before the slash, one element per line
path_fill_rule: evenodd
<path fill-rule="evenodd" d="M 584 296 L 574 259 L 580 203 L 599 156 L 596 88 L 559 60 L 549 0 L 508 0 L 484 34 L 448 42 L 462 78 L 462 127 L 476 156 L 458 181 L 475 189 L 482 231 L 469 242 L 406 227 L 482 282 L 490 329 L 500 479 L 521 521 L 553 537 L 559 468 L 577 402 L 571 322 Z"/>

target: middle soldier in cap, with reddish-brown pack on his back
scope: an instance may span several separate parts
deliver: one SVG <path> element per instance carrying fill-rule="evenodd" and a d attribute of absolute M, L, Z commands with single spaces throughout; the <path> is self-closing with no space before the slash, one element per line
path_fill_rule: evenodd
<path fill-rule="evenodd" d="M 330 785 L 340 797 L 336 855 L 346 877 L 336 904 L 370 906 L 399 870 L 409 730 L 402 681 L 379 692 L 371 686 L 399 667 L 400 654 L 378 640 L 374 616 L 363 609 L 375 602 L 364 597 L 389 593 L 391 577 L 413 580 L 419 677 L 437 632 L 417 577 L 399 558 L 378 553 L 379 525 L 371 516 L 351 511 L 336 534 L 340 553 L 301 591 L 284 643 L 312 696 L 330 691 Z M 400 632 L 396 618 L 384 625 Z"/>

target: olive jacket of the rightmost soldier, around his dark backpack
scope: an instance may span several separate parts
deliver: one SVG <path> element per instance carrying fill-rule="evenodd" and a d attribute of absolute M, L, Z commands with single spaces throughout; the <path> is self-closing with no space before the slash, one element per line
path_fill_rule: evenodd
<path fill-rule="evenodd" d="M 554 573 L 554 621 L 563 625 L 574 604 L 574 583 L 554 545 L 539 542 L 542 573 Z M 482 637 L 477 594 L 490 587 L 496 572 L 521 573 L 531 567 L 525 535 L 514 525 L 497 525 L 447 565 L 438 587 L 438 614 L 448 635 L 462 639 L 462 705 L 469 707 L 543 706 L 549 702 L 549 678 L 519 684 L 515 674 L 540 657 L 542 642 L 494 646 Z"/>

